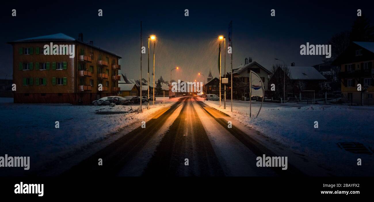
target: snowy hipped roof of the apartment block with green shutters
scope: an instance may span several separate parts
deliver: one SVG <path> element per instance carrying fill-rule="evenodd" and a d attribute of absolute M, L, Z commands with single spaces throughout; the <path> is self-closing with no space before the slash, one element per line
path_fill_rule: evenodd
<path fill-rule="evenodd" d="M 78 41 L 75 38 L 69 37 L 68 35 L 65 35 L 63 33 L 51 34 L 51 35 L 45 35 L 45 36 L 39 36 L 39 37 L 25 38 L 25 39 L 21 39 L 21 40 L 10 41 L 10 42 L 7 42 L 7 43 L 8 44 L 14 44 L 14 43 L 21 43 L 21 42 L 53 42 L 53 41 L 74 41 L 74 42 L 79 42 L 79 43 L 91 46 L 93 48 L 96 48 L 98 50 L 104 51 L 106 53 L 109 53 L 111 55 L 114 55 L 114 56 L 116 56 L 118 58 L 122 58 L 122 57 L 117 56 L 116 54 L 111 53 L 111 52 L 109 52 L 107 50 L 101 49 L 99 47 L 96 47 L 96 46 L 94 46 L 92 44 L 89 44 L 89 43 L 86 43 L 84 41 Z"/>

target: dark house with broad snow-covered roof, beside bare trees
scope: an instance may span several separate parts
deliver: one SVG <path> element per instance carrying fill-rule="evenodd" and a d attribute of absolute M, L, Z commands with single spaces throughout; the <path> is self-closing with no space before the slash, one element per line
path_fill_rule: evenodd
<path fill-rule="evenodd" d="M 283 75 L 285 75 L 285 99 L 287 99 L 287 97 L 299 97 L 302 91 L 304 91 L 304 93 L 306 93 L 306 91 L 314 91 L 314 93 L 310 93 L 309 95 L 302 95 L 302 97 L 309 96 L 312 98 L 319 93 L 319 83 L 327 81 L 327 79 L 312 66 L 294 66 L 293 63 L 287 68 L 289 71 L 289 76 L 287 73 L 283 73 L 283 69 L 281 67 L 278 67 L 272 78 L 269 80 L 269 84 L 274 83 L 276 85 L 275 88 L 280 88 L 282 89 L 281 92 L 283 92 Z"/>

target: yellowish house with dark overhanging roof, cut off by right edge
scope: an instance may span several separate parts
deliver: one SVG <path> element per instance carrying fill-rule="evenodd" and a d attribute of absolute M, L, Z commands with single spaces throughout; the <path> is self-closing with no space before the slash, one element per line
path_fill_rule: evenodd
<path fill-rule="evenodd" d="M 356 104 L 374 104 L 374 42 L 351 42 L 334 60 L 340 66 L 341 101 Z M 357 85 L 361 84 L 362 91 Z"/>

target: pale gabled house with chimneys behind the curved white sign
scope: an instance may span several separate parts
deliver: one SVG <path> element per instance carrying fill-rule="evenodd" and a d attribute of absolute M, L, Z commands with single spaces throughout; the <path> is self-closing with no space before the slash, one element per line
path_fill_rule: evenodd
<path fill-rule="evenodd" d="M 269 75 L 271 75 L 271 72 L 265 67 L 258 64 L 256 61 L 252 61 L 252 58 L 245 58 L 244 65 L 233 69 L 233 77 L 241 77 L 243 79 L 243 82 L 249 82 L 249 72 L 251 70 L 257 73 L 258 76 L 260 76 L 262 82 L 264 83 L 264 88 L 265 90 L 267 90 Z M 230 74 L 231 73 L 229 72 L 228 75 L 230 76 Z"/>

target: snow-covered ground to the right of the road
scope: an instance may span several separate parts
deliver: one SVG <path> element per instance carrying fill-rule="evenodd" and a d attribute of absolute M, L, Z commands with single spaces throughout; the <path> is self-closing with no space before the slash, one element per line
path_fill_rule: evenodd
<path fill-rule="evenodd" d="M 374 155 L 353 154 L 337 146 L 339 142 L 359 142 L 374 148 L 374 107 L 264 103 L 258 118 L 249 119 L 247 102 L 234 101 L 233 112 L 230 100 L 226 109 L 220 108 L 218 101 L 205 104 L 306 155 L 306 159 L 315 161 L 332 175 L 374 175 Z M 252 116 L 259 107 L 259 102 L 252 103 Z M 315 121 L 318 128 L 314 128 Z M 357 165 L 358 158 L 362 160 L 361 166 Z"/>

